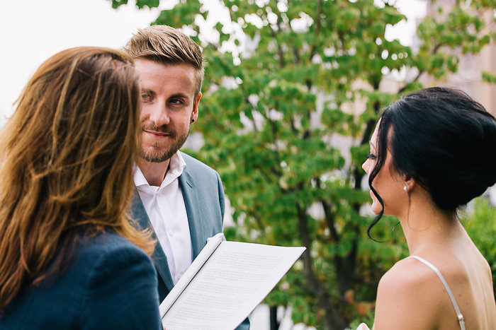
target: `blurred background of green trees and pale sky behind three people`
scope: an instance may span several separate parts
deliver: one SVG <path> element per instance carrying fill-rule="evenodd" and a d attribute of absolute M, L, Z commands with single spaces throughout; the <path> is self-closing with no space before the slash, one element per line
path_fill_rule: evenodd
<path fill-rule="evenodd" d="M 373 215 L 361 163 L 380 110 L 403 93 L 466 90 L 496 114 L 494 0 L 0 0 L 0 125 L 62 49 L 120 48 L 150 23 L 203 47 L 199 121 L 186 148 L 220 173 L 228 240 L 307 252 L 252 329 L 373 323 L 382 274 L 407 256 L 398 220 Z M 461 151 L 463 152 L 463 151 Z M 461 219 L 496 274 L 496 191 Z M 494 278 L 493 278 L 494 281 Z"/>

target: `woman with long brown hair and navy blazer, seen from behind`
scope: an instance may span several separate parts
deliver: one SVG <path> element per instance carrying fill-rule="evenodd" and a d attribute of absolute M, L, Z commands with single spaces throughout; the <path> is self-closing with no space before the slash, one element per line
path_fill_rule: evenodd
<path fill-rule="evenodd" d="M 0 132 L 1 329 L 162 328 L 153 242 L 127 216 L 139 132 L 123 52 L 67 49 L 30 79 Z"/>

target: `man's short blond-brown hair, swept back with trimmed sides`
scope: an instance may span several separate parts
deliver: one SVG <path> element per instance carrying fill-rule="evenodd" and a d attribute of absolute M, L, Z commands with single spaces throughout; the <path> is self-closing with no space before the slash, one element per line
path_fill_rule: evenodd
<path fill-rule="evenodd" d="M 180 30 L 168 25 L 152 25 L 137 30 L 124 47 L 134 59 L 149 59 L 164 65 L 191 64 L 195 69 L 195 95 L 201 91 L 203 82 L 203 54 L 196 42 Z"/>

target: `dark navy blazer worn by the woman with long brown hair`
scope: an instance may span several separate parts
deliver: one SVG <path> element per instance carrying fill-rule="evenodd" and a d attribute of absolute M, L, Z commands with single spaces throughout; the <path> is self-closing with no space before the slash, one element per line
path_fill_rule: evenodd
<path fill-rule="evenodd" d="M 150 258 L 114 232 L 75 243 L 62 273 L 26 285 L 0 329 L 162 329 Z"/>

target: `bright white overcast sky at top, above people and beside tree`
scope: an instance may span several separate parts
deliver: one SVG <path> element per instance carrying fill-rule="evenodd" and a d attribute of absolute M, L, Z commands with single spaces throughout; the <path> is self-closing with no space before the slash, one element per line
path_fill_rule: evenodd
<path fill-rule="evenodd" d="M 166 6 L 176 2 L 162 0 Z M 0 0 L 0 126 L 45 59 L 69 47 L 123 47 L 138 28 L 150 25 L 159 14 L 157 8 L 140 11 L 135 1 L 129 3 L 115 10 L 110 0 Z M 398 0 L 397 4 L 409 22 L 388 33 L 411 45 L 415 18 L 425 15 L 424 1 Z"/>

